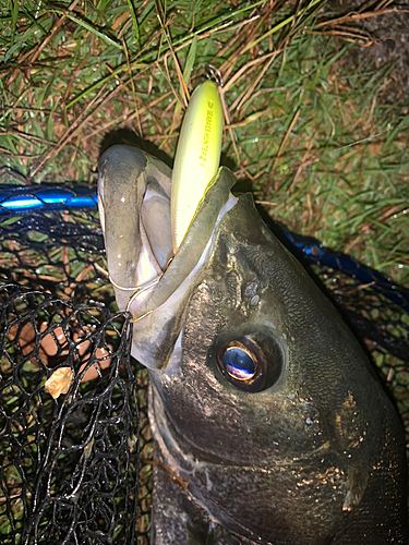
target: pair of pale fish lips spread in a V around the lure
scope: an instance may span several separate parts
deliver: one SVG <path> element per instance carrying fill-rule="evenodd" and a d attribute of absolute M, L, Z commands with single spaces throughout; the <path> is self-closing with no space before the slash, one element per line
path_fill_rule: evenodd
<path fill-rule="evenodd" d="M 216 183 L 216 182 L 217 183 Z M 170 222 L 171 170 L 155 157 L 131 146 L 112 146 L 99 161 L 98 207 L 107 249 L 108 269 L 116 288 L 120 310 L 128 310 L 137 319 L 146 312 L 160 306 L 176 289 L 183 283 L 190 272 L 203 261 L 203 253 L 220 219 L 220 208 L 234 198 L 230 189 L 236 178 L 226 168 L 220 168 L 202 198 L 196 214 L 189 227 L 177 254 L 170 261 L 160 263 L 152 245 L 152 237 L 157 235 L 155 228 L 147 229 L 148 215 L 144 210 L 149 187 L 156 194 L 161 190 L 169 225 L 164 227 L 169 239 L 168 255 L 172 253 Z M 156 184 L 156 187 L 155 187 Z M 231 207 L 231 206 L 230 206 Z M 226 210 L 225 210 L 226 211 Z M 159 237 L 156 237 L 160 239 Z M 119 254 L 119 255 L 118 255 Z M 142 272 L 142 262 L 149 264 L 151 270 Z M 158 280 L 155 289 L 145 287 Z M 129 304 L 132 291 L 144 291 L 143 298 L 135 298 Z M 130 293 L 131 292 L 131 293 Z M 160 296 L 158 295 L 160 294 Z M 118 298 L 119 295 L 119 298 Z M 151 300 L 152 304 L 141 303 Z M 141 303 L 141 304 L 140 304 Z M 136 307 L 141 306 L 139 315 Z"/>

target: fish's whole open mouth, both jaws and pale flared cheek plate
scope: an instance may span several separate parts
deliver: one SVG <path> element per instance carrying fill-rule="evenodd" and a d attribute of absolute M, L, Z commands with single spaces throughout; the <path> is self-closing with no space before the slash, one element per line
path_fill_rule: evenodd
<path fill-rule="evenodd" d="M 171 170 L 130 146 L 113 146 L 100 159 L 98 208 L 110 280 L 119 308 L 132 314 L 131 353 L 148 368 L 170 363 L 185 304 L 203 278 L 220 220 L 238 202 L 230 193 L 234 183 L 221 167 L 173 256 Z"/>

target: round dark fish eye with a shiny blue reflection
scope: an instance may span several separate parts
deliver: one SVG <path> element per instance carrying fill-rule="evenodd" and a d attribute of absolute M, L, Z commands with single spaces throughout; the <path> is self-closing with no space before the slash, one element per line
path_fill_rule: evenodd
<path fill-rule="evenodd" d="M 249 392 L 264 390 L 277 382 L 284 361 L 282 350 L 277 341 L 267 337 L 254 337 L 243 336 L 229 342 L 221 341 L 216 352 L 222 376 L 239 390 Z"/>

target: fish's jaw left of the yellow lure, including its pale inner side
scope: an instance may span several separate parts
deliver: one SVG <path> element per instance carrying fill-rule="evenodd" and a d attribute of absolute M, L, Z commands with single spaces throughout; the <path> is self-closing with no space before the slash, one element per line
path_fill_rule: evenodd
<path fill-rule="evenodd" d="M 170 177 L 166 165 L 130 146 L 112 146 L 99 161 L 98 210 L 120 310 L 172 255 Z"/>

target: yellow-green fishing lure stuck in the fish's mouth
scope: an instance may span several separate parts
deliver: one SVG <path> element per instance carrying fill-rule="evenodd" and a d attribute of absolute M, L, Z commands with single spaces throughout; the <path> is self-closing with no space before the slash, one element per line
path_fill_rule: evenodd
<path fill-rule="evenodd" d="M 170 196 L 172 244 L 176 253 L 188 232 L 220 162 L 221 100 L 214 82 L 195 88 L 184 114 L 176 150 Z"/>

